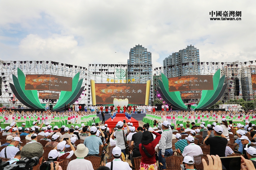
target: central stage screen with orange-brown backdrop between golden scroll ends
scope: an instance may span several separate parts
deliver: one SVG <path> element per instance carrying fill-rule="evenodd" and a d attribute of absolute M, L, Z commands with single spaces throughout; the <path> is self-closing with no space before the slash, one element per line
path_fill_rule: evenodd
<path fill-rule="evenodd" d="M 128 99 L 129 104 L 145 104 L 147 84 L 95 83 L 97 104 L 113 104 L 114 98 Z"/>

